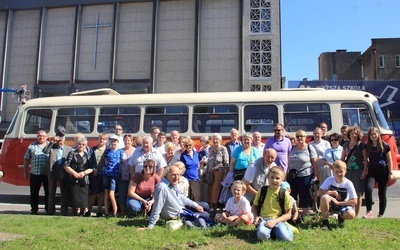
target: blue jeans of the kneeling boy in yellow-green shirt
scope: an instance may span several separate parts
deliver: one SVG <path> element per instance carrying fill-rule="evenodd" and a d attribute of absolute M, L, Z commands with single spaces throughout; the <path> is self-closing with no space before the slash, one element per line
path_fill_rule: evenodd
<path fill-rule="evenodd" d="M 276 239 L 281 241 L 292 241 L 293 232 L 285 222 L 279 222 L 273 228 L 265 226 L 265 222 L 272 220 L 272 218 L 264 218 L 257 227 L 257 238 L 259 240 L 269 240 L 271 238 L 271 231 L 275 233 Z"/>

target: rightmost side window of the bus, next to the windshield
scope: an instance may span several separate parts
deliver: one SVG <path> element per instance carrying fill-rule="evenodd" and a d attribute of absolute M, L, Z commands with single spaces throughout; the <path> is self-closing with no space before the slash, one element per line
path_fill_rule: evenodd
<path fill-rule="evenodd" d="M 359 126 L 363 131 L 368 131 L 368 128 L 373 126 L 370 110 L 363 103 L 342 104 L 342 116 L 343 125 Z"/>

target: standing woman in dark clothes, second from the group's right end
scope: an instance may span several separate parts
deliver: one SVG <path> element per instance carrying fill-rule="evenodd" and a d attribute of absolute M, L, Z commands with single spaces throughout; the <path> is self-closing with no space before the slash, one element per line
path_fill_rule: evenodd
<path fill-rule="evenodd" d="M 357 192 L 356 217 L 360 212 L 362 196 L 365 190 L 365 177 L 367 174 L 367 150 L 361 141 L 363 133 L 358 126 L 350 127 L 347 131 L 349 141 L 343 145 L 341 160 L 347 164 L 346 178 L 353 182 Z"/>

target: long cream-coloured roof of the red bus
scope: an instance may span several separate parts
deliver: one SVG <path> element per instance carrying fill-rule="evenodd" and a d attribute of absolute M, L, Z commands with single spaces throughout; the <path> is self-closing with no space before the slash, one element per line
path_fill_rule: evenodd
<path fill-rule="evenodd" d="M 359 90 L 290 89 L 267 92 L 202 92 L 202 93 L 162 93 L 162 94 L 123 94 L 123 95 L 74 95 L 43 97 L 27 101 L 21 107 L 59 107 L 82 105 L 173 105 L 198 103 L 273 103 L 273 102 L 314 102 L 355 101 L 376 97 Z"/>

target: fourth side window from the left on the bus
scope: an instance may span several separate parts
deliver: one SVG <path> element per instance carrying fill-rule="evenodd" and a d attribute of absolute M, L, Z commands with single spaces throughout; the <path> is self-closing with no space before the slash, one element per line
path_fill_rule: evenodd
<path fill-rule="evenodd" d="M 153 126 L 161 131 L 177 130 L 185 133 L 188 130 L 189 111 L 187 106 L 149 106 L 144 115 L 143 130 L 150 133 Z"/>

